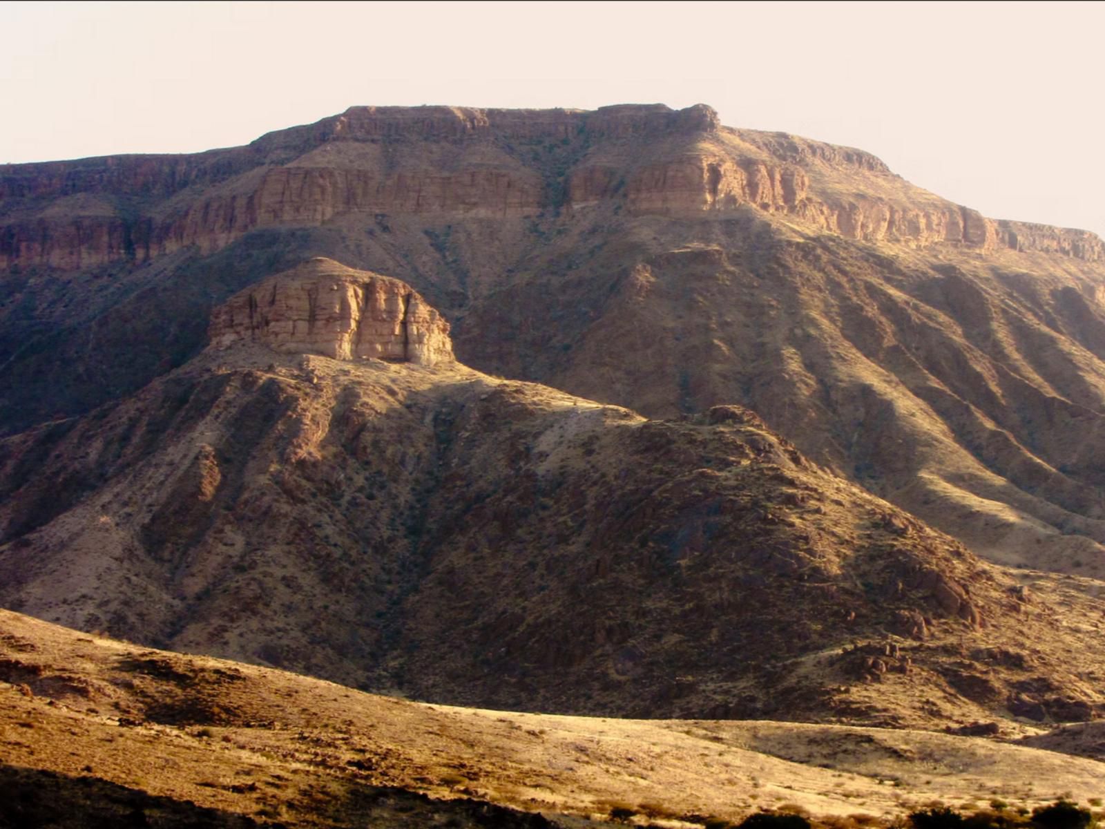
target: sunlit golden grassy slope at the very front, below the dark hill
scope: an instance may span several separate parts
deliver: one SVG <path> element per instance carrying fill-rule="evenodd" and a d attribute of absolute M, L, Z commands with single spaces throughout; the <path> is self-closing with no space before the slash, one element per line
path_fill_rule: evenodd
<path fill-rule="evenodd" d="M 1105 786 L 1099 762 L 976 737 L 425 705 L 9 611 L 0 702 L 0 822 L 21 826 L 87 826 L 113 808 L 113 825 L 133 826 L 538 829 L 622 809 L 694 827 L 777 807 L 871 822 L 933 800 L 1032 807 Z"/>

